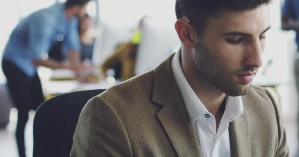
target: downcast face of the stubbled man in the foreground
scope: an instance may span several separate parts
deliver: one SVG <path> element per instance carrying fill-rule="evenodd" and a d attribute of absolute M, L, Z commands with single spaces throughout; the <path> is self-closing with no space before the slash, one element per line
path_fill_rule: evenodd
<path fill-rule="evenodd" d="M 197 77 L 230 96 L 244 95 L 262 66 L 269 29 L 268 9 L 222 11 L 197 38 L 192 63 Z"/>

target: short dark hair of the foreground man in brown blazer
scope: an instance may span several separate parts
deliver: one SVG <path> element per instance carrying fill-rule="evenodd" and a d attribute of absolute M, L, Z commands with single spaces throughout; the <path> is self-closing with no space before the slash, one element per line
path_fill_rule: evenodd
<path fill-rule="evenodd" d="M 177 19 L 186 17 L 197 33 L 205 30 L 207 20 L 223 10 L 245 11 L 269 4 L 272 0 L 176 0 Z"/>

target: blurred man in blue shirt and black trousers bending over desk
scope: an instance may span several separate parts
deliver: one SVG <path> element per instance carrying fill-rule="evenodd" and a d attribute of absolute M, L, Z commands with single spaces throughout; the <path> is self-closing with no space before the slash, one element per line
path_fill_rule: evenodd
<path fill-rule="evenodd" d="M 90 67 L 79 62 L 80 42 L 77 17 L 85 14 L 90 0 L 66 0 L 25 17 L 12 31 L 3 52 L 2 69 L 18 109 L 16 139 L 20 157 L 25 157 L 24 129 L 28 111 L 44 101 L 37 66 L 68 68 L 80 74 Z M 68 51 L 69 62 L 48 59 L 46 54 L 58 41 Z"/>

